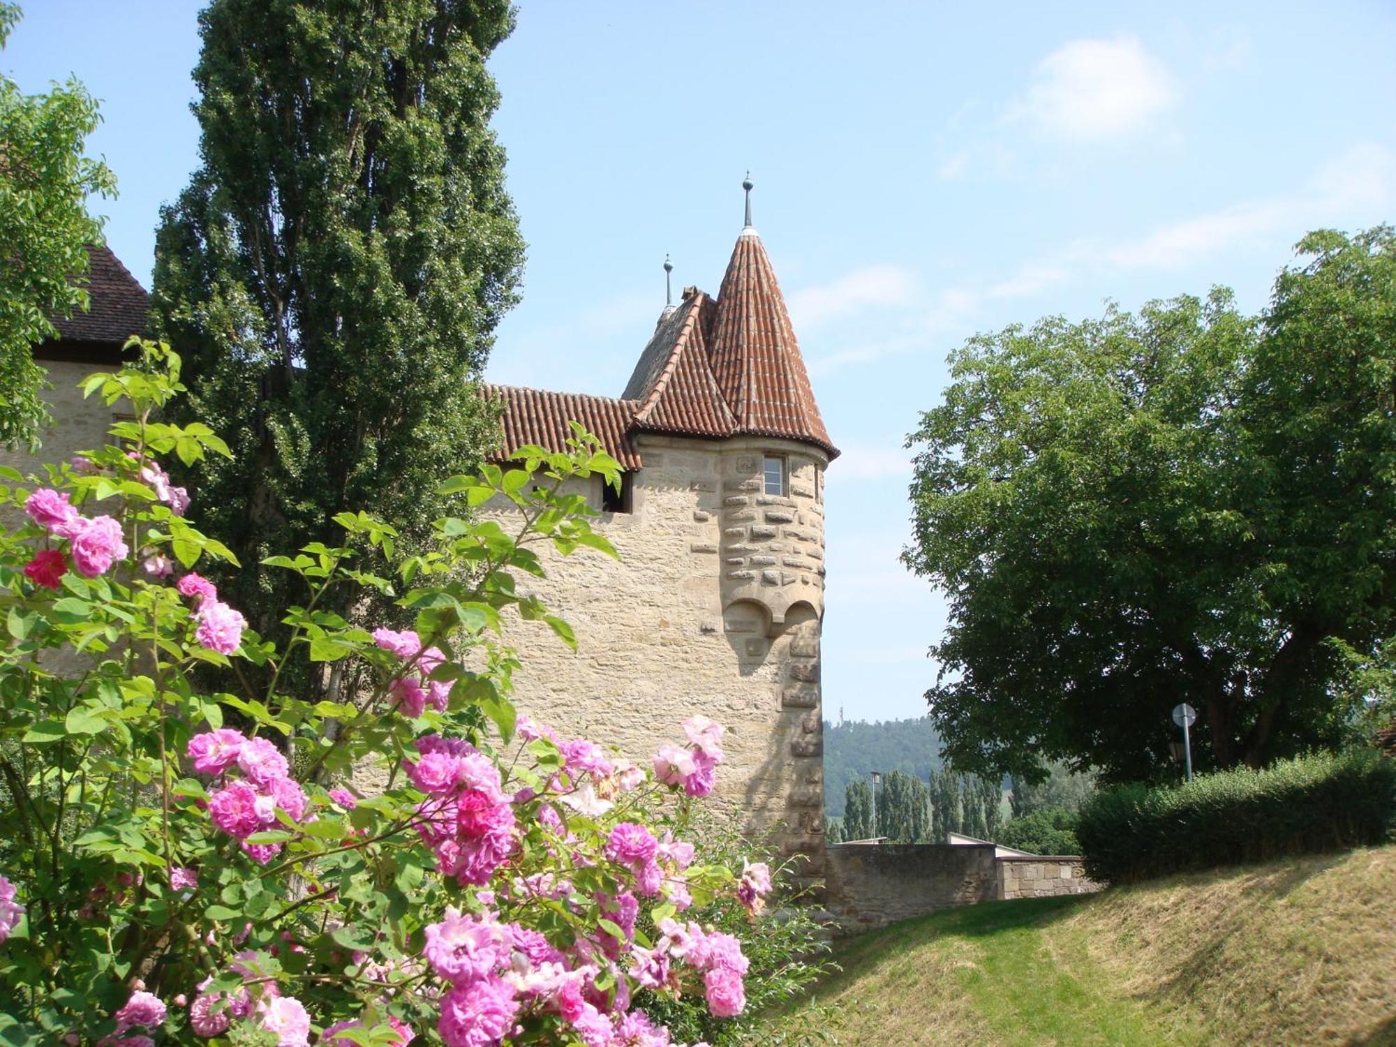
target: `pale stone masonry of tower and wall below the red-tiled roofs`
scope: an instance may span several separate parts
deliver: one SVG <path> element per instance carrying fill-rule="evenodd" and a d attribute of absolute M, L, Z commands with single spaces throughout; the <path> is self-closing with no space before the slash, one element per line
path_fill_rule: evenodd
<path fill-rule="evenodd" d="M 540 623 L 511 623 L 515 704 L 637 762 L 683 741 L 688 716 L 711 716 L 727 729 L 716 801 L 818 863 L 826 461 L 782 440 L 641 436 L 638 445 L 632 512 L 596 521 L 620 560 L 549 549 L 549 577 L 519 579 L 571 623 L 578 649 Z M 789 456 L 789 498 L 761 494 L 764 452 Z M 599 507 L 599 480 L 589 494 Z"/>

